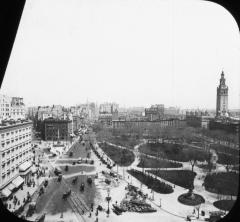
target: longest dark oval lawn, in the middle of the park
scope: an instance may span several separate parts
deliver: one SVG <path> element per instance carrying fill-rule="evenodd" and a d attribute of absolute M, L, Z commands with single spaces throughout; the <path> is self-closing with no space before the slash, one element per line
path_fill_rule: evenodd
<path fill-rule="evenodd" d="M 139 151 L 151 156 L 159 156 L 180 162 L 188 162 L 190 160 L 189 154 L 192 152 L 196 154 L 198 161 L 203 162 L 208 157 L 208 154 L 203 150 L 169 143 L 143 144 L 139 147 Z"/>

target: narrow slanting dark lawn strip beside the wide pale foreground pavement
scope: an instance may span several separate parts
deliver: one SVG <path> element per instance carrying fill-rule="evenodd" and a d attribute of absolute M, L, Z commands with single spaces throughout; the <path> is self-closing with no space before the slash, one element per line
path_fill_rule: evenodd
<path fill-rule="evenodd" d="M 157 193 L 169 194 L 173 192 L 173 188 L 170 185 L 152 176 L 146 175 L 141 171 L 128 170 L 127 172 Z"/>

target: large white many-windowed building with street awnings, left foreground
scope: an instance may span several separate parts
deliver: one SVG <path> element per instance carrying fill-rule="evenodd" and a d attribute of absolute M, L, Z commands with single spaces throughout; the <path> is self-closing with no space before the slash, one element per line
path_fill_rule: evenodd
<path fill-rule="evenodd" d="M 0 190 L 8 197 L 32 173 L 32 121 L 3 121 L 0 138 Z"/>

